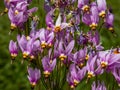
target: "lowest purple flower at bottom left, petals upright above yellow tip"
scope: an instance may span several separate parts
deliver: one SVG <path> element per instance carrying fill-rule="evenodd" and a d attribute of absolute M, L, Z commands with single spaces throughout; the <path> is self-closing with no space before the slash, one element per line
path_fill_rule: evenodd
<path fill-rule="evenodd" d="M 30 81 L 30 84 L 32 86 L 35 86 L 37 84 L 38 80 L 41 77 L 40 70 L 37 69 L 37 68 L 33 69 L 33 68 L 29 67 L 28 68 L 28 74 L 29 74 L 28 79 Z"/>

